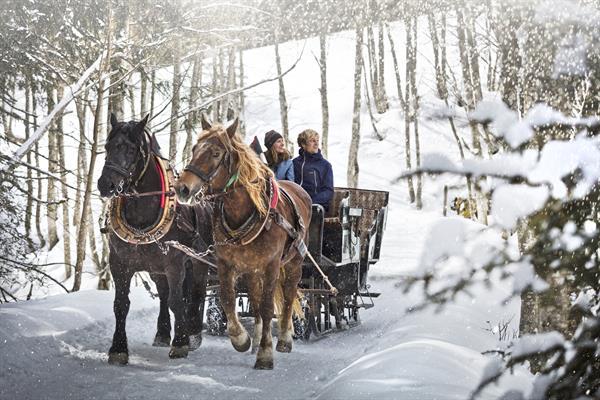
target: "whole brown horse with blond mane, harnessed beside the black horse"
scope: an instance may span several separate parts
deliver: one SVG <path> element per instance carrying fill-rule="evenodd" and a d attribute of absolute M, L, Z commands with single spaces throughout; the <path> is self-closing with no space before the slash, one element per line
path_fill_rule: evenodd
<path fill-rule="evenodd" d="M 225 129 L 202 118 L 203 131 L 175 190 L 183 202 L 195 198 L 215 202 L 213 236 L 229 338 L 237 351 L 250 348 L 250 336 L 235 312 L 235 281 L 245 275 L 255 312 L 254 368 L 273 369 L 274 296 L 282 298 L 276 349 L 290 352 L 292 308 L 302 277 L 311 200 L 293 182 L 276 183 L 271 170 L 236 134 L 237 127 L 237 119 Z"/>

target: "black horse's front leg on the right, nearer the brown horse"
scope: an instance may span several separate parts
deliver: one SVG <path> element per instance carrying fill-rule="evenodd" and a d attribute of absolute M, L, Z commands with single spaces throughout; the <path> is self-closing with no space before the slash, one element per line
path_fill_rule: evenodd
<path fill-rule="evenodd" d="M 183 279 L 185 268 L 170 268 L 166 272 L 169 282 L 169 308 L 175 316 L 175 337 L 171 343 L 170 358 L 187 357 L 190 339 L 187 332 L 185 302 L 183 300 Z"/>

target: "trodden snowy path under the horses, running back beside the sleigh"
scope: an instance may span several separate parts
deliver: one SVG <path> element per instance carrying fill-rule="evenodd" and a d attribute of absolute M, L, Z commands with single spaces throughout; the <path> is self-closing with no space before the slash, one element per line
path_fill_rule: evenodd
<path fill-rule="evenodd" d="M 494 304 L 506 293 L 492 291 L 476 296 L 478 304 L 463 298 L 440 314 L 406 314 L 418 298 L 402 295 L 396 277 L 416 267 L 423 232 L 435 219 L 396 207 L 388 220 L 389 245 L 372 270 L 372 290 L 382 293 L 376 307 L 361 313 L 356 328 L 295 342 L 291 354 L 276 353 L 273 371 L 253 370 L 254 355 L 207 335 L 187 359 L 169 360 L 166 348 L 150 345 L 158 305 L 143 289 L 132 291 L 125 367 L 107 363 L 112 292 L 5 305 L 0 398 L 464 399 L 487 362 L 480 352 L 496 344 L 486 321 L 510 318 L 518 304 L 499 315 Z"/>

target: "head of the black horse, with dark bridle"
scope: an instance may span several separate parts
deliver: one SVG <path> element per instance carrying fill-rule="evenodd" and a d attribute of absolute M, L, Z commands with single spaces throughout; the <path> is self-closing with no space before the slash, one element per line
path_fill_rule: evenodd
<path fill-rule="evenodd" d="M 147 122 L 147 115 L 139 122 L 119 122 L 111 114 L 111 131 L 104 146 L 106 161 L 98 179 L 98 190 L 102 197 L 127 192 L 135 177 L 142 172 L 149 155 L 144 140 Z"/>

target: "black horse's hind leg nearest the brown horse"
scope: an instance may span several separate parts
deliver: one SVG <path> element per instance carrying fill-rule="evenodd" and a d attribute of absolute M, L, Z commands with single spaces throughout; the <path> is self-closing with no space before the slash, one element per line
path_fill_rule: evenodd
<path fill-rule="evenodd" d="M 204 300 L 206 298 L 206 266 L 191 262 L 187 274 L 190 279 L 190 293 L 187 305 L 188 333 L 190 350 L 202 344 L 202 322 L 204 321 Z"/>

